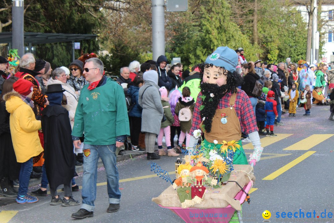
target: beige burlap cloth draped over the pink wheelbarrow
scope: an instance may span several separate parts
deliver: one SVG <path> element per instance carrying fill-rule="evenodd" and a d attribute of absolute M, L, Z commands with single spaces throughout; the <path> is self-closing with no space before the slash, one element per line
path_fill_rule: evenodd
<path fill-rule="evenodd" d="M 229 181 L 236 181 L 241 187 L 248 184 L 249 178 L 253 182 L 255 181 L 255 176 L 252 173 L 250 165 L 233 165 L 233 168 L 234 171 L 232 171 Z M 231 205 L 235 210 L 241 210 L 240 202 L 234 200 L 235 195 L 241 189 L 234 182 L 228 182 L 222 188 L 217 189 L 213 189 L 207 185 L 205 187 L 206 192 L 202 203 L 194 205 L 194 208 L 224 208 Z M 219 193 L 214 193 L 215 191 L 219 191 Z M 173 189 L 172 185 L 162 192 L 159 197 L 152 198 L 152 201 L 164 207 L 181 207 L 177 191 Z"/>

